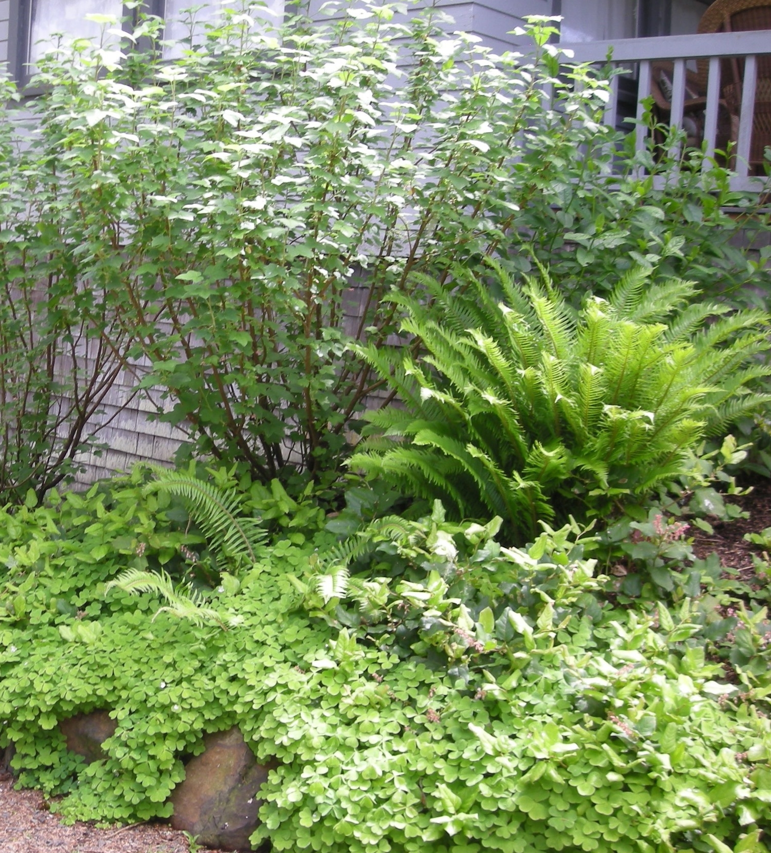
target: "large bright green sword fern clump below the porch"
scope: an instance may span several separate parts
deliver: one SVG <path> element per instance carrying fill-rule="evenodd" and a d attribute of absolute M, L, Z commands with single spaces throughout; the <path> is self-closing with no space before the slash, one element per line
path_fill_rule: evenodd
<path fill-rule="evenodd" d="M 545 270 L 519 286 L 493 269 L 391 297 L 414 346 L 358 351 L 401 405 L 368 415 L 351 467 L 461 516 L 500 514 L 521 540 L 685 473 L 704 433 L 771 399 L 748 387 L 771 372 L 762 311 L 689 304 L 691 283 L 639 267 L 572 310 Z"/>

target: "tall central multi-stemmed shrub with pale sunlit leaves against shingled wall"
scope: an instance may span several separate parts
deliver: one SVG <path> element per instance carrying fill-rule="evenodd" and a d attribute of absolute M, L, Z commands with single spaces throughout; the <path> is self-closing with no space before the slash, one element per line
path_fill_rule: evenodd
<path fill-rule="evenodd" d="M 335 478 L 378 385 L 346 344 L 392 334 L 383 295 L 414 270 L 495 251 L 549 171 L 509 167 L 542 149 L 523 131 L 574 156 L 597 136 L 605 91 L 588 70 L 556 77 L 545 26 L 531 61 L 490 62 L 448 42 L 436 9 L 397 22 L 374 0 L 350 5 L 328 25 L 290 15 L 279 40 L 250 29 L 244 3 L 177 61 L 145 49 L 161 32 L 152 17 L 125 57 L 80 43 L 42 59 L 39 132 L 0 177 L 0 245 L 15 263 L 32 241 L 67 282 L 89 282 L 107 303 L 90 334 L 152 365 L 142 386 L 167 398 L 159 416 L 195 451 L 297 490 Z M 27 209 L 43 189 L 55 203 Z M 24 281 L 37 275 L 24 267 Z"/>

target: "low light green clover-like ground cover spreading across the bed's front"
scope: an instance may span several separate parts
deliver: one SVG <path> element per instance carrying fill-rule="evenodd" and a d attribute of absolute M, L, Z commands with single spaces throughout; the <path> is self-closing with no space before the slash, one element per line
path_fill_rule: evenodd
<path fill-rule="evenodd" d="M 159 536 L 175 506 L 160 498 L 137 475 L 3 515 L 3 599 L 28 583 L 31 609 L 0 627 L 0 746 L 23 784 L 66 794 L 67 819 L 168 814 L 183 757 L 237 724 L 275 764 L 254 837 L 275 850 L 765 853 L 771 731 L 749 704 L 764 691 L 705 653 L 700 600 L 615 608 L 575 523 L 501 548 L 500 519 L 448 523 L 436 504 L 347 548 L 279 539 L 217 593 L 239 617 L 223 631 L 105 596 L 112 547 L 104 571 L 83 566 L 95 539 Z M 346 512 L 374 501 L 359 488 Z M 65 603 L 87 618 L 51 601 L 68 560 L 83 575 Z M 324 602 L 333 561 L 347 594 Z M 118 728 L 85 766 L 56 722 L 97 707 Z"/>

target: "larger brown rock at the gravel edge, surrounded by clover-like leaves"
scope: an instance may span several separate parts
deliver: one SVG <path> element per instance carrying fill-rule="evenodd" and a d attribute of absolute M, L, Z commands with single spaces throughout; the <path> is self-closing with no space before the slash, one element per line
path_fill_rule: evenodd
<path fill-rule="evenodd" d="M 257 795 L 270 767 L 257 763 L 238 727 L 207 735 L 204 745 L 171 794 L 171 826 L 207 847 L 252 850 L 249 836 L 259 826 L 262 805 Z"/>

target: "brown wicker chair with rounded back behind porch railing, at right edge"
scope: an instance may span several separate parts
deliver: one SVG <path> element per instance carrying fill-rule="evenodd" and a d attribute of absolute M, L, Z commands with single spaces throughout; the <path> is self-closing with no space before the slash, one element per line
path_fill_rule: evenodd
<path fill-rule="evenodd" d="M 771 0 L 716 0 L 704 12 L 699 32 L 739 32 L 771 30 Z M 745 63 L 738 58 L 721 64 L 721 97 L 731 113 L 731 138 L 736 142 L 739 128 L 742 81 Z M 700 86 L 706 90 L 707 62 L 699 62 Z M 763 173 L 764 151 L 771 145 L 771 56 L 757 58 L 755 112 L 752 116 L 750 171 Z"/>

